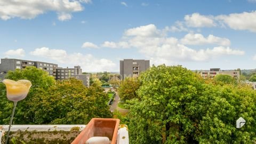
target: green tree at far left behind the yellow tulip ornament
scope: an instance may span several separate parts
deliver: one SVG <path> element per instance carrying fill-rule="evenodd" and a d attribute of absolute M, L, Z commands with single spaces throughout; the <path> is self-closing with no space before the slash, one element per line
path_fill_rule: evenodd
<path fill-rule="evenodd" d="M 54 78 L 49 76 L 46 71 L 35 67 L 26 67 L 25 69 L 9 71 L 6 78 L 14 81 L 18 81 L 19 79 L 28 79 L 32 83 L 27 98 L 18 102 L 13 123 L 33 123 L 35 111 L 30 110 L 31 100 L 35 97 L 35 94 L 38 93 L 38 91 L 46 91 L 51 85 L 53 85 L 55 83 Z M 3 111 L 5 112 L 4 115 L 0 116 L 0 119 L 3 119 L 2 124 L 8 124 L 13 104 L 11 101 L 7 100 L 5 86 L 3 88 L 4 89 L 1 89 L 1 97 L 3 98 L 3 101 L 1 102 L 0 108 L 3 108 Z"/>

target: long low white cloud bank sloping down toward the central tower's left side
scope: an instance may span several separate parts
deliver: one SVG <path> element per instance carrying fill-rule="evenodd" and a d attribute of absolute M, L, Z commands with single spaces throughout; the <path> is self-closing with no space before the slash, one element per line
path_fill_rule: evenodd
<path fill-rule="evenodd" d="M 113 71 L 116 70 L 116 64 L 111 60 L 97 59 L 91 54 L 67 53 L 65 50 L 49 49 L 49 47 L 41 47 L 30 52 L 31 55 L 37 57 L 56 60 L 65 66 L 81 66 L 83 71 Z"/>

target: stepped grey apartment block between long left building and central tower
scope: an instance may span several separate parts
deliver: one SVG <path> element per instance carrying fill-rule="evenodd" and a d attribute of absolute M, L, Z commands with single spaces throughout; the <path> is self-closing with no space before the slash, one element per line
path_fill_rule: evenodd
<path fill-rule="evenodd" d="M 74 77 L 80 79 L 85 86 L 90 85 L 90 75 L 83 75 L 80 66 L 75 66 L 74 68 L 57 68 L 56 71 L 56 79 L 63 80 Z"/>

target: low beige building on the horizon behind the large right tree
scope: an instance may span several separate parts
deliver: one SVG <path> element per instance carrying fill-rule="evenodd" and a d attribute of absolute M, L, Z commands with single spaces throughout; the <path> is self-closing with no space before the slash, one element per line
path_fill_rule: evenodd
<path fill-rule="evenodd" d="M 230 75 L 239 79 L 239 71 L 236 70 L 220 70 L 220 68 L 211 68 L 210 70 L 199 71 L 202 77 L 214 77 L 216 75 Z"/>

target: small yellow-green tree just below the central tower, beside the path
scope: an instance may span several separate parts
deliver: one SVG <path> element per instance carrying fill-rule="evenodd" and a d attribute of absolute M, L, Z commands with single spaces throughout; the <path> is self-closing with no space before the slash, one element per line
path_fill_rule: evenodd
<path fill-rule="evenodd" d="M 123 81 L 121 81 L 121 84 L 118 89 L 118 94 L 121 100 L 124 102 L 126 100 L 131 100 L 134 98 L 138 98 L 136 91 L 140 87 L 139 79 L 133 78 L 133 77 L 126 77 Z"/>

